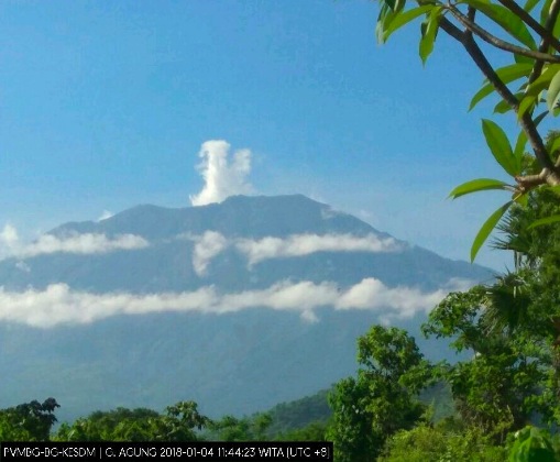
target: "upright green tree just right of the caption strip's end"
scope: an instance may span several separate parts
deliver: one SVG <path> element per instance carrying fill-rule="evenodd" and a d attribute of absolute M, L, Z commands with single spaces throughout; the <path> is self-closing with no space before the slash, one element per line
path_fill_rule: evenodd
<path fill-rule="evenodd" d="M 426 410 L 416 396 L 430 367 L 406 331 L 372 327 L 358 340 L 358 377 L 340 381 L 329 396 L 327 438 L 342 462 L 374 460 L 389 436 L 411 428 Z"/>

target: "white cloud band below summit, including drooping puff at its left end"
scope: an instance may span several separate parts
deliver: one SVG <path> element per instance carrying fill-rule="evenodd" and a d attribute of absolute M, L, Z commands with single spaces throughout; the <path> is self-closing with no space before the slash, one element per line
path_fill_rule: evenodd
<path fill-rule="evenodd" d="M 305 256 L 316 252 L 399 252 L 402 244 L 393 238 L 375 234 L 358 237 L 352 234 L 292 234 L 285 239 L 267 237 L 260 240 L 230 239 L 216 231 L 199 237 L 187 237 L 195 241 L 193 267 L 199 276 L 207 273 L 211 260 L 233 246 L 242 253 L 249 266 L 264 260 Z"/>

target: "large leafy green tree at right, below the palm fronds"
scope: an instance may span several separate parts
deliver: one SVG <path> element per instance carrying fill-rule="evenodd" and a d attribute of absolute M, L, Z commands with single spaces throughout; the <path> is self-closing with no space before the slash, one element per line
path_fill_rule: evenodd
<path fill-rule="evenodd" d="M 501 442 L 507 431 L 523 428 L 535 411 L 545 410 L 536 397 L 546 388 L 550 370 L 546 342 L 529 330 L 521 332 L 518 324 L 516 309 L 528 308 L 516 304 L 528 305 L 528 299 L 513 295 L 515 285 L 504 288 L 507 280 L 448 295 L 422 326 L 427 336 L 453 339 L 455 351 L 472 352 L 469 361 L 440 364 L 438 375 L 450 384 L 462 419 Z M 505 321 L 496 321 L 502 314 Z M 514 327 L 508 322 L 516 336 L 509 333 Z"/>

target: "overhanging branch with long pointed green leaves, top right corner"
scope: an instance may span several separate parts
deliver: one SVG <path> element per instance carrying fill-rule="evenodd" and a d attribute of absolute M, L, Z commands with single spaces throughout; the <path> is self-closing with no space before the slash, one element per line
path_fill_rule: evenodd
<path fill-rule="evenodd" d="M 419 43 L 422 62 L 433 51 L 438 32 L 451 37 L 485 78 L 471 100 L 471 109 L 494 94 L 497 96 L 494 112 L 514 113 L 513 121 L 518 123 L 519 131 L 512 143 L 496 122 L 482 121 L 488 150 L 512 182 L 477 178 L 458 186 L 450 195 L 458 198 L 490 189 L 510 195 L 475 237 L 471 249 L 474 260 L 514 204 L 525 207 L 529 191 L 560 186 L 560 161 L 556 155 L 560 143 L 547 145 L 540 132 L 543 119 L 560 113 L 560 1 L 527 0 L 518 4 L 515 0 L 380 0 L 380 4 L 376 32 L 381 42 L 424 18 Z M 508 64 L 498 68 L 491 58 Z M 527 144 L 529 153 L 525 151 Z M 539 223 L 559 220 L 556 215 Z"/>

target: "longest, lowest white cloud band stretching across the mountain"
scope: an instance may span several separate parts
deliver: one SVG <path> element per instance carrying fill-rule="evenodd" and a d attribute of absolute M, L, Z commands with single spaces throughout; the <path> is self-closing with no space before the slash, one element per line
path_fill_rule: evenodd
<path fill-rule="evenodd" d="M 237 312 L 264 308 L 298 312 L 305 321 L 317 321 L 317 309 L 374 310 L 383 319 L 409 318 L 427 312 L 451 288 L 424 293 L 417 288 L 388 288 L 374 278 L 340 290 L 334 283 L 283 282 L 260 290 L 219 294 L 213 287 L 195 292 L 134 295 L 129 293 L 91 294 L 74 292 L 65 284 L 44 290 L 15 293 L 0 287 L 0 321 L 36 328 L 67 323 L 89 323 L 117 315 L 184 311 L 201 314 Z"/>

